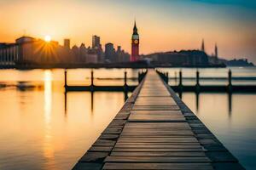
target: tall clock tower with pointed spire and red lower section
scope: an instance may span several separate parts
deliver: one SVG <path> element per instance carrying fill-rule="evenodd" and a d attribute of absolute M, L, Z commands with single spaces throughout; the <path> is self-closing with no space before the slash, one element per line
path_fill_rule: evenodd
<path fill-rule="evenodd" d="M 137 61 L 139 58 L 139 35 L 137 33 L 137 26 L 136 26 L 136 21 L 134 23 L 133 27 L 133 33 L 131 37 L 131 59 L 130 61 Z"/>

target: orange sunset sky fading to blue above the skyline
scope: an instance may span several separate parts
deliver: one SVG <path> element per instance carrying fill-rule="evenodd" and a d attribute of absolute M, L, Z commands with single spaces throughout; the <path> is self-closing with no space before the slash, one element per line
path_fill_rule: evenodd
<path fill-rule="evenodd" d="M 91 46 L 113 42 L 131 53 L 137 20 L 140 53 L 218 45 L 225 59 L 256 63 L 256 1 L 254 0 L 0 0 L 0 42 L 23 35 Z"/>

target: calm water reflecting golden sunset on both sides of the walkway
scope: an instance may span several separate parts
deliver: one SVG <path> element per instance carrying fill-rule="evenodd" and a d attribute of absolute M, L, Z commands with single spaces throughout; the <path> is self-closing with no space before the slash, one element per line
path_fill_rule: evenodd
<path fill-rule="evenodd" d="M 172 77 L 179 71 L 164 70 Z M 236 77 L 256 77 L 255 68 L 232 70 Z M 124 71 L 95 70 L 95 83 L 122 84 Z M 137 70 L 126 71 L 128 83 L 137 84 Z M 200 71 L 205 77 L 227 75 L 227 69 Z M 195 77 L 195 69 L 183 69 L 183 75 Z M 125 94 L 117 92 L 65 96 L 63 80 L 63 70 L 0 71 L 0 169 L 71 169 L 125 102 Z M 201 83 L 210 82 L 227 83 Z M 68 83 L 89 84 L 90 70 L 68 71 Z M 247 169 L 256 168 L 255 94 L 185 93 L 182 98 Z"/>

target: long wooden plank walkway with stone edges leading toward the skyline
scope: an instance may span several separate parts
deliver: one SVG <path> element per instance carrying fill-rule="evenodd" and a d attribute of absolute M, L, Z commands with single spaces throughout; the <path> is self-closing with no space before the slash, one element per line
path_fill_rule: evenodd
<path fill-rule="evenodd" d="M 244 168 L 166 82 L 149 70 L 73 169 Z"/>

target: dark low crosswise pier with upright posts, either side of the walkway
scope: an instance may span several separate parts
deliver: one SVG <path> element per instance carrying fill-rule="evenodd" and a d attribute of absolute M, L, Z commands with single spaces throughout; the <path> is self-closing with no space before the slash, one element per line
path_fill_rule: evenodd
<path fill-rule="evenodd" d="M 157 73 L 160 75 L 160 77 L 164 80 L 164 82 L 166 82 L 166 84 L 169 83 L 170 78 L 168 76 L 168 72 L 164 73 L 164 72 L 160 72 L 157 71 Z M 70 92 L 70 91 L 90 91 L 90 92 L 94 92 L 94 91 L 116 91 L 116 92 L 132 92 L 135 88 L 137 88 L 137 85 L 128 85 L 127 84 L 127 73 L 125 71 L 124 73 L 124 84 L 123 85 L 119 85 L 119 86 L 98 86 L 94 84 L 94 72 L 91 71 L 90 72 L 90 85 L 81 85 L 81 86 L 73 86 L 73 85 L 68 85 L 67 84 L 67 70 L 65 70 L 64 72 L 65 75 L 65 92 Z M 145 77 L 146 75 L 146 71 L 139 71 L 138 72 L 138 76 L 137 76 L 137 80 L 138 82 L 142 82 L 143 77 Z M 216 92 L 216 93 L 228 93 L 228 94 L 232 94 L 232 93 L 256 93 L 256 85 L 242 85 L 242 84 L 236 84 L 234 85 L 232 83 L 232 79 L 236 78 L 238 80 L 255 80 L 256 77 L 246 77 L 247 79 L 245 79 L 245 77 L 241 78 L 241 77 L 232 77 L 232 73 L 231 71 L 228 72 L 228 84 L 227 85 L 201 85 L 200 83 L 200 74 L 199 71 L 196 71 L 196 83 L 195 85 L 184 85 L 183 84 L 183 79 L 184 77 L 182 76 L 183 73 L 182 71 L 179 71 L 179 77 L 178 77 L 178 85 L 171 85 L 170 87 L 172 88 L 173 91 L 181 94 L 183 92 L 195 92 L 197 94 L 202 93 L 202 92 Z M 211 77 L 208 77 L 211 78 Z M 240 79 L 239 79 L 240 78 Z M 174 78 L 177 81 L 177 77 Z"/>

